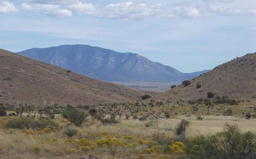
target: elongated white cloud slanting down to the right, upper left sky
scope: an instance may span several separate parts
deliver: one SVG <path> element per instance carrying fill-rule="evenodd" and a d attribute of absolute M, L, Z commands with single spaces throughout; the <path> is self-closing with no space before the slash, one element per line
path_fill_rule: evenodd
<path fill-rule="evenodd" d="M 72 12 L 53 4 L 27 4 L 22 3 L 22 8 L 31 11 L 43 11 L 45 14 L 55 17 L 72 17 Z"/>

